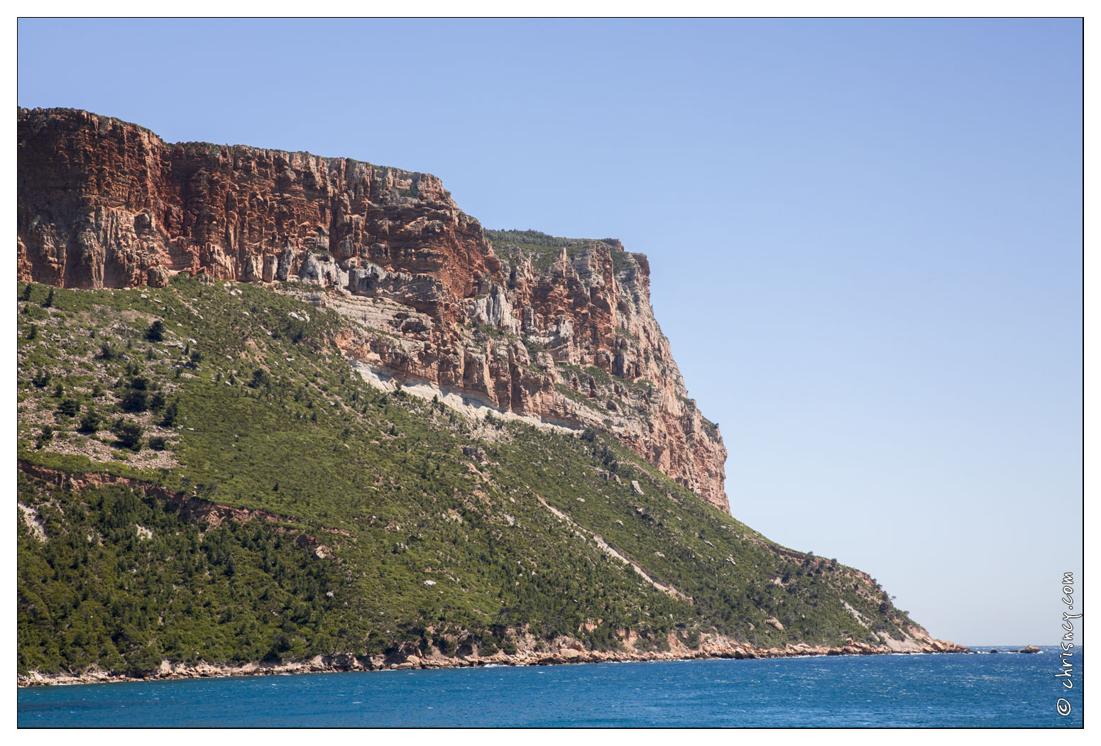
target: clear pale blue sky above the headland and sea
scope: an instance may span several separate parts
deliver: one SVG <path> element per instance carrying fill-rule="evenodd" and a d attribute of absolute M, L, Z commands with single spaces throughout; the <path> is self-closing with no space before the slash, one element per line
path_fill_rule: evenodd
<path fill-rule="evenodd" d="M 734 516 L 971 645 L 1054 644 L 1082 570 L 1081 64 L 1077 20 L 19 23 L 20 106 L 647 254 Z"/>

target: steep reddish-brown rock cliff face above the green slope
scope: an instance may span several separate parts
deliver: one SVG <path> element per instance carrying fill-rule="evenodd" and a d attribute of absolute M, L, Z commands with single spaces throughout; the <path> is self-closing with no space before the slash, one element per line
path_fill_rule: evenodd
<path fill-rule="evenodd" d="M 686 396 L 645 257 L 618 241 L 493 246 L 428 174 L 170 144 L 85 111 L 20 110 L 18 147 L 21 279 L 277 283 L 351 321 L 360 370 L 602 429 L 729 509 L 722 439 Z"/>

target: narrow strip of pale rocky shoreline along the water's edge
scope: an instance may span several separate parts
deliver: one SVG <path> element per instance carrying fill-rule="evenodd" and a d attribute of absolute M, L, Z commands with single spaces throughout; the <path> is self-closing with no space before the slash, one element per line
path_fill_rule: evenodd
<path fill-rule="evenodd" d="M 171 679 L 206 679 L 238 676 L 273 676 L 292 673 L 338 673 L 346 671 L 386 671 L 433 668 L 479 668 L 486 666 L 554 666 L 562 663 L 608 663 L 645 662 L 657 660 L 707 660 L 707 659 L 752 659 L 795 658 L 805 656 L 868 656 L 891 654 L 971 652 L 956 643 L 926 637 L 916 645 L 911 640 L 905 645 L 870 645 L 848 640 L 846 645 L 825 646 L 805 643 L 788 644 L 784 647 L 759 648 L 752 645 L 734 644 L 724 639 L 701 643 L 698 649 L 678 645 L 669 650 L 589 650 L 577 640 L 556 641 L 549 649 L 517 649 L 508 655 L 498 650 L 491 656 L 449 657 L 434 652 L 432 656 L 314 656 L 306 660 L 282 662 L 251 662 L 242 665 L 214 663 L 161 663 L 156 673 L 146 677 L 130 677 L 109 673 L 96 667 L 81 673 L 30 673 L 17 677 L 19 687 L 43 687 L 56 684 L 111 683 L 118 681 L 165 681 Z M 526 646 L 525 646 L 526 647 Z"/>

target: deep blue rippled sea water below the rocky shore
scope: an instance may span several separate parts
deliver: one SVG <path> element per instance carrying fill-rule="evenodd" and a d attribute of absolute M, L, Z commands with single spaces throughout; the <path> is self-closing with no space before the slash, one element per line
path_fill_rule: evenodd
<path fill-rule="evenodd" d="M 1080 727 L 1082 658 L 1068 692 L 1043 650 L 40 687 L 19 691 L 19 725 Z"/>

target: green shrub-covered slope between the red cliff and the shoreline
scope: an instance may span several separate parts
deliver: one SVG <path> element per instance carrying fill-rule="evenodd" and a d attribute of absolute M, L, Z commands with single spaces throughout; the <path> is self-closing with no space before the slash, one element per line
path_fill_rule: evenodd
<path fill-rule="evenodd" d="M 523 633 L 877 641 L 844 604 L 909 624 L 866 575 L 776 547 L 600 434 L 369 387 L 340 318 L 277 290 L 18 292 L 20 672 L 490 655 Z"/>

